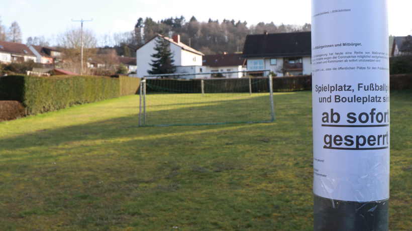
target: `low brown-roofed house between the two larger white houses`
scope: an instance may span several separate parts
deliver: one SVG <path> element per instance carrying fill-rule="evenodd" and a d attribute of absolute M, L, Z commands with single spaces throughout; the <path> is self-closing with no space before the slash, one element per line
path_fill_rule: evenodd
<path fill-rule="evenodd" d="M 246 70 L 246 59 L 242 58 L 242 54 L 227 54 L 225 52 L 219 55 L 204 55 L 202 59 L 203 72 Z M 227 73 L 223 75 L 227 78 L 241 78 L 244 73 Z"/>

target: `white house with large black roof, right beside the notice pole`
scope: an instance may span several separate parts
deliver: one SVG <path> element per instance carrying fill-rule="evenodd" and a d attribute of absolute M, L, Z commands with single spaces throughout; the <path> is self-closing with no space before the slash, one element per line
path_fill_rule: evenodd
<path fill-rule="evenodd" d="M 247 35 L 242 58 L 247 70 L 270 69 L 277 76 L 312 73 L 311 32 Z M 267 75 L 267 73 L 260 73 Z"/>

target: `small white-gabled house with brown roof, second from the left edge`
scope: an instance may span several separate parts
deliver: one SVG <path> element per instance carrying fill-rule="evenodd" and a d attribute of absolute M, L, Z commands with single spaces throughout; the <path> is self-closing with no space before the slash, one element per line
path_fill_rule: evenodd
<path fill-rule="evenodd" d="M 56 65 L 63 61 L 62 52 L 57 48 L 30 45 L 29 49 L 36 55 L 37 63 Z"/>

